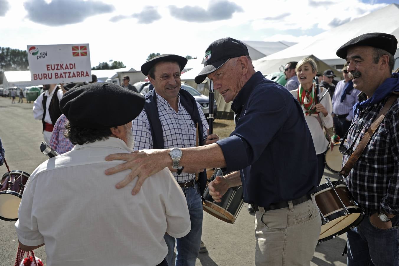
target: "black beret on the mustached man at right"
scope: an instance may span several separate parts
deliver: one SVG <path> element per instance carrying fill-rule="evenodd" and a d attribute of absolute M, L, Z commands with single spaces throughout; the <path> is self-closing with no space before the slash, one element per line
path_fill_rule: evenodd
<path fill-rule="evenodd" d="M 348 48 L 354 46 L 372 46 L 375 48 L 381 48 L 387 51 L 389 54 L 394 55 L 396 52 L 398 41 L 395 36 L 387 33 L 373 32 L 362 34 L 356 38 L 353 38 L 340 49 L 337 50 L 337 56 L 346 59 Z"/>

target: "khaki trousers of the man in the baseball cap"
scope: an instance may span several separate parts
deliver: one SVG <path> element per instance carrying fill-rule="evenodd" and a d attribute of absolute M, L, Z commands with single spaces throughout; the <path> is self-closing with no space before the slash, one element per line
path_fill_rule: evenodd
<path fill-rule="evenodd" d="M 314 195 L 288 205 L 255 212 L 255 265 L 310 265 L 322 224 Z"/>

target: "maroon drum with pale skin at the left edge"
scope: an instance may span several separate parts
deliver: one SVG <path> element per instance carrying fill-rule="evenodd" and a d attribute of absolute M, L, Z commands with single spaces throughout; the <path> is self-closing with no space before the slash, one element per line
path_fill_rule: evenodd
<path fill-rule="evenodd" d="M 18 170 L 3 175 L 0 181 L 0 219 L 18 220 L 18 207 L 29 176 L 28 173 Z"/>

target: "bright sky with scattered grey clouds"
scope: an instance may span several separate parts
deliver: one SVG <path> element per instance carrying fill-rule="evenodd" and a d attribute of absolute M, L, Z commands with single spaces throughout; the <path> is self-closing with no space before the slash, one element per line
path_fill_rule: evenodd
<path fill-rule="evenodd" d="M 0 0 L 0 46 L 89 43 L 92 66 L 140 69 L 150 53 L 202 58 L 224 37 L 300 42 L 394 2 Z"/>

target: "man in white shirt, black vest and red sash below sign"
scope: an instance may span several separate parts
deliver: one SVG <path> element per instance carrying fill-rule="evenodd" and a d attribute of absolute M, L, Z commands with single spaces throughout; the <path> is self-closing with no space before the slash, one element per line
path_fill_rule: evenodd
<path fill-rule="evenodd" d="M 43 85 L 44 92 L 33 103 L 33 116 L 43 123 L 43 138 L 49 143 L 53 125 L 61 115 L 59 99 L 62 97 L 62 90 L 57 84 Z M 53 95 L 57 97 L 53 97 Z"/>

